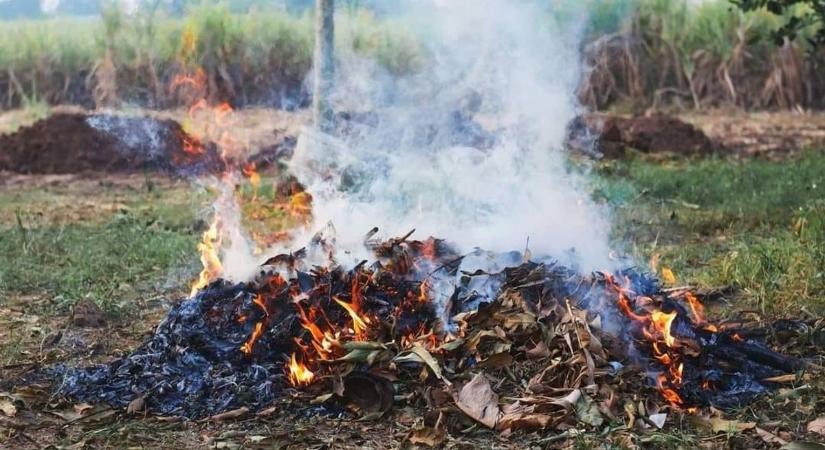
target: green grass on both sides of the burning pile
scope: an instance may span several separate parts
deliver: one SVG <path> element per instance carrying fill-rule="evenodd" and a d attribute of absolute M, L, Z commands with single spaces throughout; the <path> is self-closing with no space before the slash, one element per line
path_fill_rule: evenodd
<path fill-rule="evenodd" d="M 213 194 L 180 186 L 93 189 L 102 193 L 89 206 L 84 189 L 0 192 L 0 299 L 42 296 L 65 311 L 88 298 L 128 314 L 148 297 L 185 294 L 199 268 L 195 245 Z M 255 206 L 248 186 L 243 193 L 254 232 L 286 226 L 271 180 Z M 680 283 L 737 287 L 737 309 L 825 312 L 825 154 L 603 163 L 595 195 L 615 211 L 616 247 L 639 261 L 659 254 Z M 88 208 L 97 209 L 83 213 Z"/>

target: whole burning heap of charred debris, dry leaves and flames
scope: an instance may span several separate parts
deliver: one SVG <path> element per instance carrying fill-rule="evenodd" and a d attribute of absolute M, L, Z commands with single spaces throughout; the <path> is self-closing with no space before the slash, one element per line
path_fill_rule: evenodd
<path fill-rule="evenodd" d="M 369 416 L 449 404 L 490 428 L 536 429 L 598 425 L 639 395 L 654 411 L 737 407 L 806 365 L 765 343 L 801 322 L 712 323 L 701 295 L 633 269 L 366 242 L 374 259 L 351 268 L 318 235 L 248 282 L 213 281 L 128 356 L 52 368 L 57 393 L 188 418 L 284 397 Z M 469 259 L 485 270 L 463 270 Z"/>

